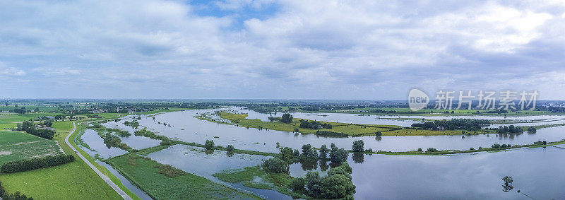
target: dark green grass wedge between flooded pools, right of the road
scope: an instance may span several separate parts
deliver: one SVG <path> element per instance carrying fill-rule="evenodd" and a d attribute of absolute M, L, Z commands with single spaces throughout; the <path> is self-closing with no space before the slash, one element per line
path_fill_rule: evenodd
<path fill-rule="evenodd" d="M 162 164 L 135 154 L 114 157 L 108 163 L 155 199 L 258 199 L 189 173 L 168 177 L 158 173 Z"/>

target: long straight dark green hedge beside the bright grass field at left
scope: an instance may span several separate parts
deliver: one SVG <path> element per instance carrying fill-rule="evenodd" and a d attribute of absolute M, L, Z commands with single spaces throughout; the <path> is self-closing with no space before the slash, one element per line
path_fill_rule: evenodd
<path fill-rule="evenodd" d="M 55 155 L 55 156 L 45 156 L 42 158 L 32 158 L 28 160 L 16 160 L 8 163 L 4 163 L 0 167 L 0 172 L 2 173 L 12 173 L 12 172 L 23 172 L 28 170 L 35 170 L 40 168 L 52 167 L 57 165 L 62 165 L 65 163 L 71 163 L 75 160 L 73 155 Z"/>

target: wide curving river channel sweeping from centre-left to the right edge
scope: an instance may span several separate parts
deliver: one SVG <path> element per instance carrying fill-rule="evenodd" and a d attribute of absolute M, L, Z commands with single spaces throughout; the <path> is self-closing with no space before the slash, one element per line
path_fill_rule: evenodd
<path fill-rule="evenodd" d="M 301 148 L 304 144 L 319 147 L 335 143 L 340 148 L 351 148 L 353 141 L 364 141 L 365 148 L 374 151 L 413 151 L 429 147 L 438 150 L 468 150 L 469 148 L 492 146 L 494 143 L 530 144 L 535 141 L 561 141 L 565 139 L 565 127 L 551 127 L 537 130 L 536 134 L 488 134 L 474 136 L 362 136 L 328 137 L 314 134 L 295 134 L 287 131 L 246 129 L 227 124 L 216 124 L 194 118 L 194 115 L 213 110 L 188 110 L 169 112 L 151 117 L 142 117 L 138 122 L 157 134 L 182 141 L 204 143 L 213 140 L 216 145 L 233 145 L 235 148 L 278 153 L 280 146 Z M 159 124 L 161 122 L 161 124 Z M 167 123 L 167 126 L 163 125 Z M 171 125 L 171 127 L 169 127 Z"/>

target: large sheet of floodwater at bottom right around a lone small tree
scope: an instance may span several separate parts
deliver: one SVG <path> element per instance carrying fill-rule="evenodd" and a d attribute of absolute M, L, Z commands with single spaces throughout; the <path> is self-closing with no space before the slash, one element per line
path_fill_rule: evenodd
<path fill-rule="evenodd" d="M 565 149 L 522 148 L 498 153 L 352 156 L 356 199 L 564 199 Z M 327 163 L 326 163 L 327 165 Z M 293 171 L 308 171 L 290 165 Z M 294 175 L 293 175 L 294 176 Z M 513 178 L 504 192 L 502 177 Z M 520 190 L 520 193 L 518 193 Z M 525 196 L 527 194 L 528 196 Z"/>

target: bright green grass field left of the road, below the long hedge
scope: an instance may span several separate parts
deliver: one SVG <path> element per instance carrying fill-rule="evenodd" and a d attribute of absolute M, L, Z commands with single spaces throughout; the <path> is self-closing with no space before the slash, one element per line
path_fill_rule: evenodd
<path fill-rule="evenodd" d="M 65 153 L 77 157 L 64 142 L 65 136 L 72 130 L 71 123 L 53 123 L 53 127 L 57 129 L 54 141 L 61 144 Z M 34 199 L 121 199 L 81 159 L 56 167 L 0 174 L 0 181 L 6 192 L 20 191 Z"/>

